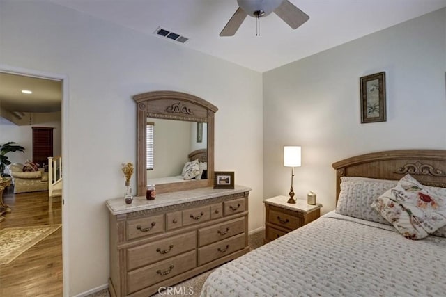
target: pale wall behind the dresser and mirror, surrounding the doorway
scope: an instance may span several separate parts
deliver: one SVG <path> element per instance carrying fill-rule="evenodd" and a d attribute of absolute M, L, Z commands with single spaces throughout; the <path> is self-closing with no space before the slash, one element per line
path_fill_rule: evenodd
<path fill-rule="evenodd" d="M 217 106 L 215 169 L 252 187 L 249 229 L 263 225 L 261 74 L 47 1 L 0 1 L 1 65 L 68 77 L 65 294 L 107 283 L 105 201 L 122 195 L 121 163 L 136 161 L 132 95 L 176 90 Z"/>

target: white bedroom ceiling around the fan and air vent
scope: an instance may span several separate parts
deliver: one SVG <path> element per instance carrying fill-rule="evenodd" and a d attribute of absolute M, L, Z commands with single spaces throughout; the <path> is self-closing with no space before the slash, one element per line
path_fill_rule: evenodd
<path fill-rule="evenodd" d="M 190 38 L 174 42 L 258 72 L 310 56 L 446 6 L 446 0 L 290 0 L 310 19 L 291 29 L 272 13 L 247 17 L 233 37 L 220 37 L 236 0 L 51 0 L 68 8 L 153 35 L 158 26 Z M 268 1 L 268 0 L 266 0 Z"/>

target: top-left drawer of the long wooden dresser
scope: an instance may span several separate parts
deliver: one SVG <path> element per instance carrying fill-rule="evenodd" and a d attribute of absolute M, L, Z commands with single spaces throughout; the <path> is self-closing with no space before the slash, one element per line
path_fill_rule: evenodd
<path fill-rule="evenodd" d="M 164 232 L 164 214 L 150 216 L 148 218 L 139 218 L 137 220 L 128 220 L 127 222 L 128 240 L 160 232 Z"/>

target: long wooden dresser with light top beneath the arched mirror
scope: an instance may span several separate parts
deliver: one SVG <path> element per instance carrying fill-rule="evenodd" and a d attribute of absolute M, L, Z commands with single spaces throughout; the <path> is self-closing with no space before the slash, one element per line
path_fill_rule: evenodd
<path fill-rule="evenodd" d="M 107 200 L 112 296 L 150 296 L 249 252 L 250 188 Z"/>

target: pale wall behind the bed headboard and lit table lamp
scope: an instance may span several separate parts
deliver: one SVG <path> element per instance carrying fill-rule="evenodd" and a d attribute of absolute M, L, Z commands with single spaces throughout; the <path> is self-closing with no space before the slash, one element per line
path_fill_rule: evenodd
<path fill-rule="evenodd" d="M 446 149 L 445 11 L 263 74 L 266 198 L 287 195 L 291 186 L 284 145 L 302 146 L 295 193 L 306 199 L 314 191 L 323 213 L 335 208 L 335 161 L 382 150 Z M 360 77 L 382 71 L 387 121 L 361 124 Z"/>

